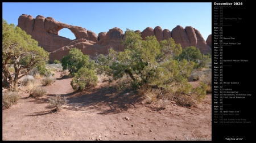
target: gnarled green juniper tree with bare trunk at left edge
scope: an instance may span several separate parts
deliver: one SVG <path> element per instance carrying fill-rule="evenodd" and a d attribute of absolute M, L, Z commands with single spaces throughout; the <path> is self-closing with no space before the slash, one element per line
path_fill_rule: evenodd
<path fill-rule="evenodd" d="M 49 53 L 38 46 L 38 41 L 31 38 L 30 34 L 14 24 L 8 24 L 4 19 L 2 30 L 2 86 L 16 90 L 18 80 L 35 66 L 47 61 Z M 10 73 L 10 66 L 14 67 L 14 74 Z"/>

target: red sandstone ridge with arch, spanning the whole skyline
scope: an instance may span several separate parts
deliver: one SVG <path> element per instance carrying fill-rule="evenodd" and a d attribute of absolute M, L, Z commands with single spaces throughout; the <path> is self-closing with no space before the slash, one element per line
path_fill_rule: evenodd
<path fill-rule="evenodd" d="M 61 60 L 64 55 L 67 55 L 73 47 L 81 49 L 82 53 L 88 54 L 90 57 L 95 57 L 96 54 L 108 54 L 108 50 L 113 48 L 116 51 L 123 51 L 124 47 L 121 41 L 125 36 L 120 28 L 109 29 L 108 32 L 96 33 L 87 31 L 85 28 L 77 27 L 55 21 L 51 17 L 36 16 L 34 19 L 31 15 L 22 14 L 18 19 L 18 27 L 30 34 L 32 38 L 38 41 L 39 46 L 47 50 L 49 54 L 49 62 L 53 60 Z M 59 31 L 63 28 L 68 28 L 76 37 L 75 40 L 59 36 Z M 155 36 L 158 41 L 174 38 L 176 44 L 181 44 L 181 47 L 196 46 L 201 53 L 208 54 L 211 51 L 211 34 L 205 42 L 201 33 L 191 26 L 181 27 L 177 25 L 172 31 L 168 29 L 162 30 L 157 26 L 154 29 L 147 27 L 141 33 L 142 39 L 147 36 Z"/>

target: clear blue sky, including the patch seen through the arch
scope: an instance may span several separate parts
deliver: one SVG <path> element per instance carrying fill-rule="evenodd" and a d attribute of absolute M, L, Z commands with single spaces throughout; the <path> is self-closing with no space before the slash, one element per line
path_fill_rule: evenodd
<path fill-rule="evenodd" d="M 114 27 L 123 33 L 126 28 L 142 32 L 157 26 L 172 31 L 177 25 L 197 29 L 204 40 L 212 34 L 211 2 L 3 2 L 2 14 L 8 24 L 18 25 L 22 14 L 42 15 L 96 34 Z M 59 35 L 75 39 L 67 28 Z"/>

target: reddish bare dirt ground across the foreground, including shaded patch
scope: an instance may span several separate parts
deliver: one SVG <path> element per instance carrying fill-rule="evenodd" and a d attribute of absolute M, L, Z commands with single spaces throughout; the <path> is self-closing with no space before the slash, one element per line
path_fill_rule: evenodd
<path fill-rule="evenodd" d="M 158 110 L 135 93 L 116 95 L 108 83 L 73 92 L 70 82 L 65 77 L 44 86 L 41 98 L 20 92 L 18 103 L 2 111 L 3 140 L 212 140 L 211 94 L 195 107 L 168 103 Z M 69 100 L 61 112 L 49 106 L 55 94 Z"/>

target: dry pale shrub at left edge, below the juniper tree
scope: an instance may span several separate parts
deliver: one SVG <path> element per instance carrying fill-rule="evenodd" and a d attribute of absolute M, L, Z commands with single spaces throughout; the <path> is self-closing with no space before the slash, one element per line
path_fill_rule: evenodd
<path fill-rule="evenodd" d="M 19 100 L 17 92 L 5 92 L 2 96 L 2 107 L 9 109 L 12 105 L 16 104 Z"/>

